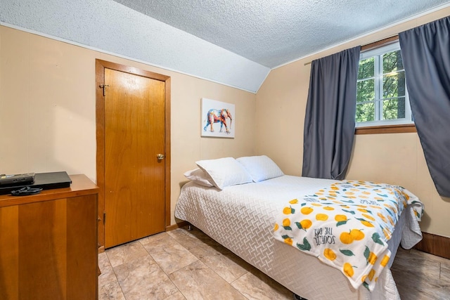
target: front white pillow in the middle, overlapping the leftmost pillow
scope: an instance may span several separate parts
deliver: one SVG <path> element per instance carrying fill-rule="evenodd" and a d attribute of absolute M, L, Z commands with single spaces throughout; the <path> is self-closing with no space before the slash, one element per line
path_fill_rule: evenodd
<path fill-rule="evenodd" d="M 252 177 L 233 157 L 206 159 L 195 162 L 210 176 L 212 184 L 222 190 L 230 185 L 252 182 Z"/>

